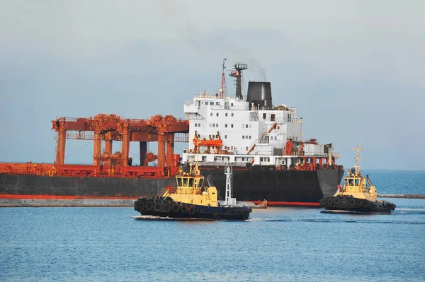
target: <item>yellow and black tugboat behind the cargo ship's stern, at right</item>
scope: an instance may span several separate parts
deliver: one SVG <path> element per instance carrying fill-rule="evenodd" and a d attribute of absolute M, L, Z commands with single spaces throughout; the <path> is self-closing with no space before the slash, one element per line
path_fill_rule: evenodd
<path fill-rule="evenodd" d="M 395 210 L 395 204 L 390 201 L 377 201 L 376 188 L 369 180 L 361 175 L 360 165 L 358 165 L 359 151 L 362 148 L 358 146 L 353 148 L 356 153 L 356 165 L 347 170 L 347 176 L 344 177 L 344 184 L 338 185 L 338 190 L 334 196 L 324 197 L 319 201 L 320 206 L 326 211 L 348 211 L 357 213 L 391 213 Z M 366 187 L 368 182 L 369 187 Z"/>

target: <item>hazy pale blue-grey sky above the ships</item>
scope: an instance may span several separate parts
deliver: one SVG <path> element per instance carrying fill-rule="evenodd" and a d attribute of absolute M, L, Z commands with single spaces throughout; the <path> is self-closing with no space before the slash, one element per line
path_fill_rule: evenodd
<path fill-rule="evenodd" d="M 271 81 L 341 165 L 359 144 L 364 168 L 425 170 L 425 2 L 259 3 L 0 0 L 0 161 L 51 163 L 56 117 L 183 117 L 227 57 L 249 64 L 245 87 Z M 69 141 L 65 162 L 92 149 Z"/>

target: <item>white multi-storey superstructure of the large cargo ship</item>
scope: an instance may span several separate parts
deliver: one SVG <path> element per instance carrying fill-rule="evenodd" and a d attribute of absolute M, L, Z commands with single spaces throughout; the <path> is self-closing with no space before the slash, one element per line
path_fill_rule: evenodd
<path fill-rule="evenodd" d="M 251 87 L 251 82 L 249 84 Z M 185 103 L 189 148 L 183 151 L 183 163 L 193 162 L 196 153 L 198 162 L 205 165 L 250 163 L 279 168 L 294 168 L 303 162 L 315 164 L 316 158 L 320 164 L 322 158 L 330 157 L 331 162 L 338 158 L 339 154 L 331 153 L 330 144 L 319 145 L 314 139 L 301 142 L 302 119 L 297 118 L 295 107 L 266 105 L 271 104 L 271 90 L 269 100 L 254 105 L 251 97 L 249 102 L 255 90 L 264 90 L 261 83 L 255 85 L 251 94 L 248 90 L 247 98 L 203 93 Z M 261 95 L 263 93 L 257 98 L 263 97 Z M 290 148 L 285 151 L 288 141 Z"/>

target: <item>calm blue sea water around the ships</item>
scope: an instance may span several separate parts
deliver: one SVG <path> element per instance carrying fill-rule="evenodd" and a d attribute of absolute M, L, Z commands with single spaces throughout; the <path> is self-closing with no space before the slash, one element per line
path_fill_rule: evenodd
<path fill-rule="evenodd" d="M 380 173 L 378 192 L 424 189 L 425 172 Z M 425 281 L 425 199 L 389 200 L 391 215 L 268 208 L 244 222 L 0 208 L 0 281 Z"/>

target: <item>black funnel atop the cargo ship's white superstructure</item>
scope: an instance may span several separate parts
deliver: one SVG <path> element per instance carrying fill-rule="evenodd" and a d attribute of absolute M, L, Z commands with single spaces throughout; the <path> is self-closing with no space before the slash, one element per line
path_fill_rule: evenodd
<path fill-rule="evenodd" d="M 271 102 L 270 82 L 249 81 L 246 101 L 249 102 L 250 110 L 256 105 L 259 105 L 260 109 L 262 110 L 271 109 L 273 104 Z"/>

